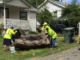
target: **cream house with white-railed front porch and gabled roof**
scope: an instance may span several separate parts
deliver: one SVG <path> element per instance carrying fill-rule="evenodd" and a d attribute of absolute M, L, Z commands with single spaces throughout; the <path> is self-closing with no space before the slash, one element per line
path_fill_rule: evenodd
<path fill-rule="evenodd" d="M 26 0 L 0 0 L 0 30 L 10 26 L 24 31 L 36 31 L 35 9 Z M 1 25 L 2 24 L 2 25 Z"/>

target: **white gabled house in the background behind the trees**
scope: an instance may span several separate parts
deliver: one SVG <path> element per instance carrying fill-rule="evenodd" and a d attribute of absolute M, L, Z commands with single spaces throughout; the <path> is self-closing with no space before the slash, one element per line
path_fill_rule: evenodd
<path fill-rule="evenodd" d="M 43 11 L 45 8 L 48 9 L 55 18 L 61 17 L 62 8 L 67 4 L 64 2 L 45 0 L 40 6 L 38 6 L 39 12 Z"/>

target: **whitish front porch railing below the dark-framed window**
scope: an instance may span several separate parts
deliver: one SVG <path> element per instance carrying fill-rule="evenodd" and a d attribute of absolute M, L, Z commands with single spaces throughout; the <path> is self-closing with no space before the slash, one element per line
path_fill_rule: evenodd
<path fill-rule="evenodd" d="M 19 19 L 6 19 L 6 28 L 14 26 L 15 29 L 21 28 L 24 30 L 29 30 L 28 20 L 19 20 Z"/>

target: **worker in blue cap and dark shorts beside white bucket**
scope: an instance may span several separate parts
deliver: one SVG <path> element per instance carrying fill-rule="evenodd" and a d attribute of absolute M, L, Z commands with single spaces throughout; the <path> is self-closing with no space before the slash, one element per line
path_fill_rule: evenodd
<path fill-rule="evenodd" d="M 3 45 L 4 45 L 4 51 L 6 50 L 6 47 L 9 46 L 9 50 L 11 48 L 11 36 L 15 35 L 17 33 L 17 31 L 13 31 L 14 27 L 11 26 L 9 29 L 7 29 L 5 35 L 4 35 L 4 41 L 3 41 Z"/>

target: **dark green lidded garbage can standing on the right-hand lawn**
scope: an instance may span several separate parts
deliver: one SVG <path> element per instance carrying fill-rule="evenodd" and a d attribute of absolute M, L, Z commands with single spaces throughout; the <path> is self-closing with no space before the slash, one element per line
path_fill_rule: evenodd
<path fill-rule="evenodd" d="M 74 35 L 74 27 L 68 27 L 68 28 L 64 28 L 62 31 L 62 34 L 64 35 L 64 42 L 65 43 L 71 43 L 74 40 L 72 39 L 73 35 Z"/>

